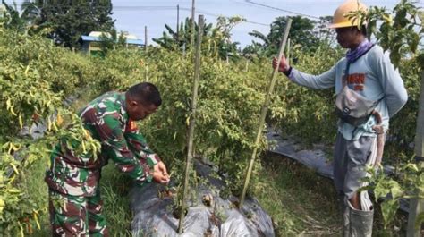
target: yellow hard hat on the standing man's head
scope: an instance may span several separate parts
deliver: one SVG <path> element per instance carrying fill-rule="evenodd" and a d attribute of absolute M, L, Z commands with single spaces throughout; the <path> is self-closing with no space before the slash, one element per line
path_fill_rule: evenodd
<path fill-rule="evenodd" d="M 347 0 L 341 4 L 336 10 L 333 17 L 333 24 L 328 28 L 343 28 L 350 26 L 358 26 L 358 19 L 349 19 L 347 15 L 352 12 L 367 12 L 367 6 L 359 0 Z M 353 20 L 353 21 L 352 21 Z"/>

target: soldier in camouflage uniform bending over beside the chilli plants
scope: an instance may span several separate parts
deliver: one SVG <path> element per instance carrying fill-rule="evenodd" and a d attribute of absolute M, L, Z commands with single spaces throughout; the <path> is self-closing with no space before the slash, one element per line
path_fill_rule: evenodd
<path fill-rule="evenodd" d="M 164 163 L 148 148 L 135 123 L 155 113 L 161 103 L 157 88 L 143 82 L 125 93 L 108 92 L 82 109 L 81 120 L 101 142 L 101 154 L 97 159 L 74 155 L 76 140 L 61 140 L 53 150 L 45 181 L 54 236 L 108 235 L 98 182 L 109 158 L 135 182 L 169 182 Z"/>

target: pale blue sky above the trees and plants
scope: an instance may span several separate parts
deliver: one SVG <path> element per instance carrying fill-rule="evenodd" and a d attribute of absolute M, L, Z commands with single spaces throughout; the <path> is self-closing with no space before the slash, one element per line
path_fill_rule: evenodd
<path fill-rule="evenodd" d="M 258 30 L 263 34 L 269 32 L 269 24 L 278 16 L 290 16 L 294 13 L 304 14 L 314 20 L 315 17 L 333 15 L 338 5 L 344 0 L 195 0 L 196 21 L 203 14 L 207 23 L 216 23 L 219 15 L 240 15 L 247 22 L 234 27 L 232 40 L 240 42 L 240 47 L 250 45 L 255 38 L 248 34 Z M 148 29 L 148 44 L 155 44 L 151 38 L 160 38 L 168 24 L 176 29 L 177 4 L 180 6 L 180 21 L 191 17 L 192 0 L 112 0 L 115 27 L 118 31 L 128 31 L 144 41 L 145 26 Z M 362 0 L 368 6 L 376 5 L 392 10 L 399 0 Z M 261 6 L 264 4 L 269 7 Z M 424 0 L 418 1 L 424 7 Z M 293 13 L 291 13 L 293 12 Z"/>

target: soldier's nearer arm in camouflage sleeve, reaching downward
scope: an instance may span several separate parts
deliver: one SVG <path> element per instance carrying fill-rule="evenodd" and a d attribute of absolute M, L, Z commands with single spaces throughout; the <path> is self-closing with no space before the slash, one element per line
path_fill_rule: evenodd
<path fill-rule="evenodd" d="M 151 182 L 152 175 L 147 165 L 141 165 L 128 147 L 122 125 L 114 114 L 106 115 L 97 126 L 102 145 L 120 171 L 128 174 L 136 182 Z"/>

